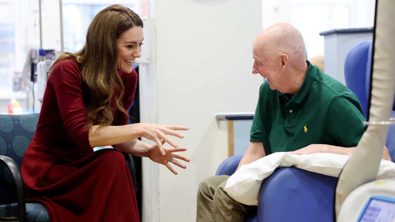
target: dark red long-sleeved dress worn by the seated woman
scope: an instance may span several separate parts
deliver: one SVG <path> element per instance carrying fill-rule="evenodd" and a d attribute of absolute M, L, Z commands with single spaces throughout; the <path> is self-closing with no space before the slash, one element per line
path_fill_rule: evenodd
<path fill-rule="evenodd" d="M 118 73 L 125 87 L 123 105 L 128 109 L 137 73 Z M 111 107 L 115 110 L 115 96 Z M 113 114 L 113 125 L 128 123 L 124 113 Z M 43 204 L 52 222 L 139 221 L 123 155 L 93 152 L 86 123 L 79 65 L 73 59 L 62 60 L 49 75 L 37 130 L 24 154 L 21 171 L 26 201 Z"/>

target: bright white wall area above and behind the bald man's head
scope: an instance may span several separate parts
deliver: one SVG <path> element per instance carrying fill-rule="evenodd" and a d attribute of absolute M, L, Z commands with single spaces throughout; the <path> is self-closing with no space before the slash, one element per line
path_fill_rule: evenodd
<path fill-rule="evenodd" d="M 263 28 L 293 24 L 305 40 L 308 59 L 324 55 L 320 32 L 334 28 L 372 27 L 375 0 L 262 0 Z"/>

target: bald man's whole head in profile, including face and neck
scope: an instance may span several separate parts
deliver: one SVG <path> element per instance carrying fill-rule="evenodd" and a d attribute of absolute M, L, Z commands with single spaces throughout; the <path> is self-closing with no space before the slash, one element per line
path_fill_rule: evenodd
<path fill-rule="evenodd" d="M 288 23 L 263 30 L 252 45 L 252 73 L 267 78 L 272 90 L 292 97 L 301 87 L 308 69 L 305 43 L 300 32 Z"/>

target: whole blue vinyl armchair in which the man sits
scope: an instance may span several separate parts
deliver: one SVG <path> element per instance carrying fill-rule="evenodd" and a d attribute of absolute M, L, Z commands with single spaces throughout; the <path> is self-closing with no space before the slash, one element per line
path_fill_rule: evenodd
<path fill-rule="evenodd" d="M 367 117 L 367 97 L 370 90 L 371 41 L 354 46 L 346 56 L 344 73 L 346 85 L 359 98 Z M 391 117 L 395 117 L 394 111 Z M 395 160 L 395 126 L 390 126 L 386 146 Z M 216 175 L 231 175 L 242 155 L 231 156 L 218 167 Z M 261 184 L 257 215 L 248 222 L 333 222 L 336 177 L 313 173 L 296 167 L 277 168 Z"/>

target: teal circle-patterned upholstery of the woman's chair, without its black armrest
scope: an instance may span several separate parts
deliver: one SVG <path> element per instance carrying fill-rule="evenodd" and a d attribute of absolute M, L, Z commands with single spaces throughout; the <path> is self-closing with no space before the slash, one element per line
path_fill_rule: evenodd
<path fill-rule="evenodd" d="M 32 141 L 39 114 L 0 115 L 0 155 L 12 158 L 21 168 L 24 152 Z M 18 204 L 14 179 L 0 162 L 0 217 L 17 217 Z M 1 220 L 1 219 L 0 219 Z M 26 203 L 24 222 L 49 222 L 45 207 Z"/>

